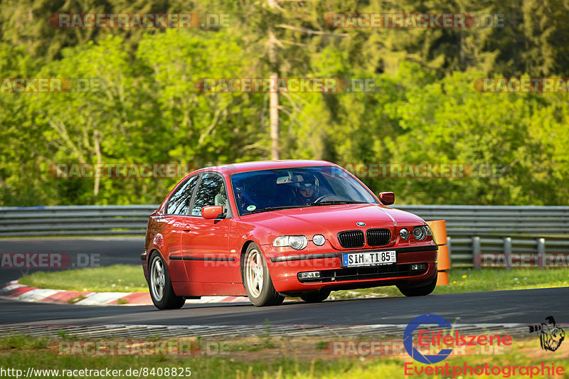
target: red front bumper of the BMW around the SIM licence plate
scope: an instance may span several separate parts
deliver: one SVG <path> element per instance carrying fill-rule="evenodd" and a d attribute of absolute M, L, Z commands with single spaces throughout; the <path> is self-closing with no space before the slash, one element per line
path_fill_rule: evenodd
<path fill-rule="evenodd" d="M 329 252 L 283 252 L 281 247 L 263 245 L 273 285 L 277 292 L 295 294 L 319 289 L 356 289 L 393 284 L 425 282 L 437 273 L 437 245 L 417 245 L 381 249 Z M 342 267 L 346 252 L 393 251 L 397 263 L 368 267 Z M 412 265 L 422 264 L 421 269 Z M 415 268 L 415 269 L 414 269 Z M 299 279 L 299 272 L 319 272 L 320 277 Z"/>

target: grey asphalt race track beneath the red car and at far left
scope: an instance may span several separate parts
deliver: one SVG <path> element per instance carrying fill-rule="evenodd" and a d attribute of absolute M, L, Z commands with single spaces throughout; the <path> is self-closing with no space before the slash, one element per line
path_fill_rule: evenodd
<path fill-rule="evenodd" d="M 99 254 L 101 265 L 139 265 L 142 238 L 3 240 L 0 252 L 65 252 Z M 18 269 L 1 269 L 0 282 L 17 279 Z M 567 323 L 569 287 L 516 291 L 437 294 L 285 302 L 257 308 L 251 304 L 186 304 L 159 311 L 154 306 L 74 306 L 0 299 L 0 324 L 145 324 L 145 325 L 366 325 L 406 324 L 420 314 L 438 314 L 451 323 L 541 324 L 546 316 Z"/>

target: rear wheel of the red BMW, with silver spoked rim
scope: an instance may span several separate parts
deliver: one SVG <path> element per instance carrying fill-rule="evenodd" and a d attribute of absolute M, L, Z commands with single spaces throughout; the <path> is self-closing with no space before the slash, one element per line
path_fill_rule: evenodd
<path fill-rule="evenodd" d="M 151 255 L 148 265 L 148 289 L 154 306 L 158 309 L 179 309 L 186 299 L 176 296 L 170 274 L 158 252 Z"/>

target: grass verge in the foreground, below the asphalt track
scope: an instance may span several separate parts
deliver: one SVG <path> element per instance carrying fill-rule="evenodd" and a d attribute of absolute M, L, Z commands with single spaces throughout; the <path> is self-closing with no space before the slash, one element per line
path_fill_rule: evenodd
<path fill-rule="evenodd" d="M 187 340 L 192 346 L 199 346 L 196 356 L 132 356 L 129 354 L 117 355 L 107 354 L 104 356 L 88 356 L 80 355 L 81 349 L 75 350 L 71 356 L 60 355 L 61 346 L 63 349 L 69 349 L 69 346 L 85 346 L 85 341 L 70 341 L 62 338 L 34 338 L 29 336 L 11 336 L 0 338 L 0 367 L 14 368 L 22 370 L 26 373 L 28 368 L 34 370 L 48 369 L 59 370 L 101 370 L 109 368 L 110 370 L 122 370 L 122 375 L 115 375 L 117 378 L 127 378 L 125 371 L 130 369 L 140 370 L 147 368 L 148 375 L 135 375 L 139 378 L 169 378 L 173 375 L 166 375 L 165 368 L 176 368 L 177 370 L 188 368 L 193 378 L 294 378 L 294 379 L 332 379 L 332 378 L 354 378 L 354 379 L 375 379 L 375 378 L 403 378 L 405 370 L 411 373 L 410 376 L 418 376 L 421 378 L 432 378 L 433 375 L 417 375 L 416 370 L 432 367 L 423 365 L 413 361 L 404 351 L 398 353 L 397 356 L 385 356 L 381 354 L 375 355 L 353 355 L 338 356 L 334 354 L 330 348 L 334 343 L 332 338 L 272 338 L 271 346 L 260 341 L 260 338 L 223 338 L 205 340 L 204 338 L 185 338 L 170 339 L 166 342 L 179 343 Z M 90 340 L 97 343 L 105 343 L 101 340 Z M 150 341 L 150 340 L 147 340 Z M 160 340 L 151 340 L 152 342 L 160 342 Z M 363 338 L 358 339 L 359 342 L 366 341 Z M 368 340 L 371 341 L 371 340 Z M 106 341 L 107 343 L 110 341 Z M 114 340 L 111 342 L 119 342 Z M 212 349 L 211 346 L 220 346 L 223 343 L 223 351 L 220 349 Z M 381 341 L 385 343 L 385 340 Z M 395 341 L 393 341 L 395 342 Z M 401 343 L 399 339 L 397 341 Z M 216 345 L 217 344 L 217 345 Z M 252 349 L 252 346 L 260 345 L 259 349 Z M 264 345 L 264 346 L 263 346 Z M 209 348 L 206 348 L 209 346 Z M 74 351 L 73 348 L 69 351 Z M 208 352 L 209 351 L 209 352 Z M 551 367 L 562 366 L 562 375 L 549 375 L 552 378 L 563 377 L 565 368 L 568 368 L 569 353 L 567 349 L 561 348 L 554 353 L 541 351 L 537 338 L 529 338 L 521 341 L 514 341 L 504 351 L 499 353 L 491 353 L 485 355 L 452 355 L 445 359 L 444 362 L 437 365 L 450 365 L 462 367 L 464 364 L 469 366 L 541 366 L 541 363 Z M 154 368 L 154 375 L 150 374 L 150 370 Z M 161 368 L 161 375 L 156 375 L 158 369 Z M 38 376 L 37 371 L 35 372 Z M 41 378 L 57 378 L 55 373 L 42 373 Z M 77 376 L 77 374 L 75 374 Z M 79 375 L 81 376 L 81 375 Z M 92 375 L 91 375 L 92 376 Z M 446 375 L 445 375 L 446 376 Z M 469 376 L 469 375 L 467 375 Z M 529 378 L 529 375 L 474 375 L 480 378 Z M 87 377 L 87 375 L 85 375 Z M 130 375 L 132 378 L 133 376 Z M 179 378 L 186 378 L 184 375 L 176 375 Z M 435 375 L 440 377 L 440 375 Z M 451 375 L 449 376 L 452 378 Z M 459 376 L 457 376 L 459 377 Z M 464 378 L 464 375 L 462 375 Z M 534 378 L 541 378 L 543 375 L 534 375 Z"/>

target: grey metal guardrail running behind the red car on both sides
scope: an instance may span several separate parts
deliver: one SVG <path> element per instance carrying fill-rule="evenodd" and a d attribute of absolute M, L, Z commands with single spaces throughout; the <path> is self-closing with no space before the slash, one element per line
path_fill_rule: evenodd
<path fill-rule="evenodd" d="M 0 237 L 144 235 L 157 205 L 0 208 Z M 569 207 L 396 205 L 425 220 L 446 220 L 452 267 L 482 252 L 569 252 Z"/>

